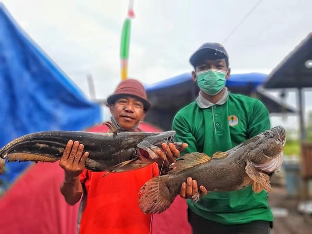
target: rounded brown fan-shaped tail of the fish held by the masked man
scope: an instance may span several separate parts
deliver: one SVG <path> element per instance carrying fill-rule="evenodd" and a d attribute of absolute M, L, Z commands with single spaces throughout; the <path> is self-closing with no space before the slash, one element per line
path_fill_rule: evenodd
<path fill-rule="evenodd" d="M 158 176 L 147 181 L 139 191 L 139 207 L 145 213 L 161 213 L 173 202 L 167 186 L 168 176 Z"/>

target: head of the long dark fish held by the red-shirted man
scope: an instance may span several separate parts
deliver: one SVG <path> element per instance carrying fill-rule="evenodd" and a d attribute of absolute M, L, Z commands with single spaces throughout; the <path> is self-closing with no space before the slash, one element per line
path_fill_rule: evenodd
<path fill-rule="evenodd" d="M 176 135 L 176 131 L 167 131 L 156 133 L 155 135 L 150 135 L 145 137 L 141 142 L 137 144 L 138 156 L 142 160 L 148 159 L 158 159 L 156 151 L 161 150 L 162 143 L 174 143 L 177 149 L 182 147 L 181 142 L 173 142 L 173 138 Z"/>

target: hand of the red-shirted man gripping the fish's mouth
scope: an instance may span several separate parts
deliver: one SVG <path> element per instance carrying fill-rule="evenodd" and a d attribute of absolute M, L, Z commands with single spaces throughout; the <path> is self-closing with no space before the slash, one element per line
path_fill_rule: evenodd
<path fill-rule="evenodd" d="M 167 167 L 171 163 L 176 161 L 176 158 L 180 156 L 180 152 L 183 151 L 188 145 L 186 143 L 182 144 L 182 147 L 178 150 L 173 143 L 169 144 L 169 147 L 166 143 L 162 143 L 162 150 L 156 151 L 156 154 L 159 156 L 157 163 L 159 166 L 164 162 L 164 166 Z"/>

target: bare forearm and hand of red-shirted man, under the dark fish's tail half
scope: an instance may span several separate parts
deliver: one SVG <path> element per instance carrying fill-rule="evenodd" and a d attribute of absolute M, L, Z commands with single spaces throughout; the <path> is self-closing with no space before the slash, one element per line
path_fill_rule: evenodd
<path fill-rule="evenodd" d="M 76 204 L 82 195 L 79 175 L 85 169 L 84 163 L 89 156 L 88 152 L 82 155 L 83 148 L 83 144 L 79 144 L 78 141 L 69 140 L 59 161 L 60 167 L 65 171 L 65 179 L 60 191 L 70 205 Z"/>

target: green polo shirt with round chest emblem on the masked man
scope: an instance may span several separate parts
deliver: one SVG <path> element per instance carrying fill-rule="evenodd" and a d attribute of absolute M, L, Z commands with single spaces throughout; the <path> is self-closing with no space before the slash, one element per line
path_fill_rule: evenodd
<path fill-rule="evenodd" d="M 176 114 L 172 128 L 176 141 L 189 145 L 184 154 L 203 152 L 212 156 L 270 129 L 270 119 L 258 99 L 230 93 L 222 105 L 201 109 L 193 102 L 184 107 Z M 273 221 L 267 193 L 255 194 L 252 186 L 233 192 L 208 192 L 197 203 L 190 199 L 187 202 L 195 214 L 222 224 Z"/>

